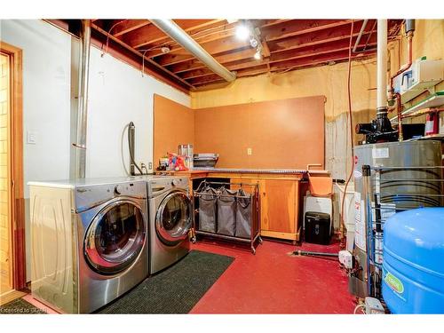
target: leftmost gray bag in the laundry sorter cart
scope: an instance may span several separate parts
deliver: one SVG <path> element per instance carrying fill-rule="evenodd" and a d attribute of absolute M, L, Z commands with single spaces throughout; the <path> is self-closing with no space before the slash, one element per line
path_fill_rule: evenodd
<path fill-rule="evenodd" d="M 216 233 L 217 199 L 218 193 L 210 186 L 199 195 L 199 230 Z"/>

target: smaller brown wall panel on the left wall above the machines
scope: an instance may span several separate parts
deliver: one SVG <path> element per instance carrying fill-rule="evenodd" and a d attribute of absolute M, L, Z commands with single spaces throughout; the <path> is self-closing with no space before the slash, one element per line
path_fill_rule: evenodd
<path fill-rule="evenodd" d="M 177 153 L 179 144 L 194 144 L 194 110 L 163 96 L 154 97 L 154 167 L 167 153 Z"/>

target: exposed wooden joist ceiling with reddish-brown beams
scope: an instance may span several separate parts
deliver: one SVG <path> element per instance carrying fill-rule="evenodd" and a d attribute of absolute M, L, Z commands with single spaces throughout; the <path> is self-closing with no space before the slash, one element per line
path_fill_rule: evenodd
<path fill-rule="evenodd" d="M 174 20 L 237 77 L 280 73 L 305 67 L 322 66 L 348 59 L 352 20 L 249 20 L 258 28 L 262 59 L 254 59 L 256 49 L 250 41 L 235 36 L 239 21 Z M 363 20 L 353 21 L 352 45 Z M 400 34 L 402 20 L 389 20 L 389 39 Z M 91 27 L 110 41 L 142 56 L 170 81 L 187 90 L 208 88 L 225 82 L 179 44 L 156 28 L 150 20 L 92 20 Z M 369 20 L 353 59 L 376 53 L 377 20 Z M 163 48 L 168 49 L 163 49 Z M 165 52 L 168 51 L 169 52 Z"/>

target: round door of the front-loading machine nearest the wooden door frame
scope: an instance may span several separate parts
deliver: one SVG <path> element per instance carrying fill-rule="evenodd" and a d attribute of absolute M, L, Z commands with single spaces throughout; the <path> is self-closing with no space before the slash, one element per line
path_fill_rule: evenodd
<path fill-rule="evenodd" d="M 145 244 L 142 210 L 121 200 L 105 207 L 92 220 L 84 240 L 84 254 L 99 274 L 122 272 L 139 257 Z"/>

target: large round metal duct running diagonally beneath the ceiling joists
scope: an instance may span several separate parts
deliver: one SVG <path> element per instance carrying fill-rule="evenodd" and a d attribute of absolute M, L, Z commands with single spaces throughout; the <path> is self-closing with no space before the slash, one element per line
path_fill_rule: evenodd
<path fill-rule="evenodd" d="M 200 44 L 186 34 L 186 31 L 180 28 L 173 20 L 155 19 L 151 20 L 151 22 L 227 82 L 235 80 L 236 75 L 233 72 L 220 65 L 209 52 L 206 52 Z"/>

